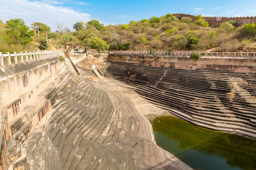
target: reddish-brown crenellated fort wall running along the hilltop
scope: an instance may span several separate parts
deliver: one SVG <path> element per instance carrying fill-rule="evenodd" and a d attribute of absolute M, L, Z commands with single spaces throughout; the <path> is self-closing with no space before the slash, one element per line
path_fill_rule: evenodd
<path fill-rule="evenodd" d="M 173 14 L 177 18 L 188 17 L 192 19 L 196 19 L 196 15 L 189 14 Z M 229 20 L 234 20 L 238 24 L 247 24 L 247 23 L 256 23 L 256 16 L 243 16 L 243 17 L 222 17 L 222 16 L 203 16 L 203 19 L 209 24 L 220 24 L 222 22 L 228 22 Z"/>

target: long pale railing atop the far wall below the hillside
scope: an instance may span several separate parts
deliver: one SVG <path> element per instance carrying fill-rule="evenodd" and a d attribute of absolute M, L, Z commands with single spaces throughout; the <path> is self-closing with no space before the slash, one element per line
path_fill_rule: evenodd
<path fill-rule="evenodd" d="M 170 55 L 170 56 L 188 56 L 191 53 L 204 56 L 256 56 L 255 52 L 200 52 L 200 51 L 109 51 L 110 54 L 153 54 L 153 55 Z"/>

